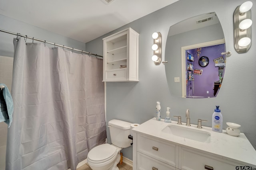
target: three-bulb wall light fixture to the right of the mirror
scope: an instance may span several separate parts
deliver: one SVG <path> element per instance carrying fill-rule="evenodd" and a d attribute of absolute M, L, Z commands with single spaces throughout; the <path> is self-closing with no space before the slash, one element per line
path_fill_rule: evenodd
<path fill-rule="evenodd" d="M 234 47 L 238 53 L 246 53 L 252 44 L 251 8 L 252 2 L 246 1 L 234 12 Z"/>

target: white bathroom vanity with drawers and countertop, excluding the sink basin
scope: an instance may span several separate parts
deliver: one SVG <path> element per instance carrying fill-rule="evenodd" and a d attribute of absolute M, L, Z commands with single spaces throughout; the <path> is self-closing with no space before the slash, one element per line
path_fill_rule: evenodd
<path fill-rule="evenodd" d="M 210 143 L 204 143 L 165 133 L 168 125 L 153 118 L 132 129 L 134 170 L 256 169 L 256 150 L 243 133 L 233 137 L 203 127 L 199 131 L 207 131 L 211 137 Z M 198 129 L 196 125 L 187 128 Z"/>

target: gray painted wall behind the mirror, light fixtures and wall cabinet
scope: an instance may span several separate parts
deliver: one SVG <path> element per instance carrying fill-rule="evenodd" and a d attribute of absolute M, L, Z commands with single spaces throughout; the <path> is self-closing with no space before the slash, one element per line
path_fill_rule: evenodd
<path fill-rule="evenodd" d="M 188 108 L 191 123 L 196 124 L 197 119 L 206 119 L 208 122 L 203 125 L 210 127 L 215 105 L 220 105 L 224 117 L 223 127 L 226 127 L 226 122 L 240 124 L 241 131 L 256 148 L 256 48 L 254 43 L 256 41 L 256 0 L 252 0 L 254 3 L 252 47 L 247 53 L 238 54 L 234 49 L 233 13 L 243 2 L 245 0 L 180 0 L 86 43 L 87 51 L 103 55 L 103 37 L 127 27 L 132 27 L 140 33 L 140 81 L 106 83 L 106 121 L 121 119 L 132 123 L 143 123 L 154 117 L 156 101 L 160 101 L 162 117 L 165 117 L 166 107 L 171 107 L 171 116 L 181 115 L 184 122 Z M 162 49 L 165 51 L 170 25 L 208 12 L 216 12 L 224 29 L 226 49 L 232 52 L 232 56 L 227 59 L 220 92 L 216 98 L 190 99 L 172 96 L 167 85 L 164 64 L 156 66 L 151 61 L 153 55 L 151 35 L 156 31 L 162 33 Z M 110 142 L 109 130 L 108 142 Z M 122 152 L 125 157 L 132 160 L 132 147 L 123 149 Z"/>

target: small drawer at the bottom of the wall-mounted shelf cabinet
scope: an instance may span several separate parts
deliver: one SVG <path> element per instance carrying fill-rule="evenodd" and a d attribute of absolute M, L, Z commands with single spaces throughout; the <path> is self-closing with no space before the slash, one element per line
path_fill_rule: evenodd
<path fill-rule="evenodd" d="M 126 80 L 126 68 L 106 70 L 106 80 Z"/>

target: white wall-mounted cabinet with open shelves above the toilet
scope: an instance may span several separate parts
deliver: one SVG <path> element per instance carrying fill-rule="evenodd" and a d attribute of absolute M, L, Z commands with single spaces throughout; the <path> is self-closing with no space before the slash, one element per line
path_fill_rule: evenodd
<path fill-rule="evenodd" d="M 103 81 L 138 81 L 139 34 L 124 29 L 103 39 Z"/>

